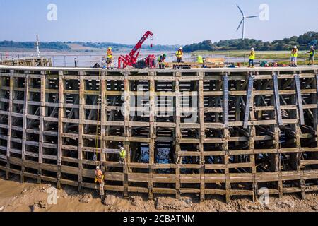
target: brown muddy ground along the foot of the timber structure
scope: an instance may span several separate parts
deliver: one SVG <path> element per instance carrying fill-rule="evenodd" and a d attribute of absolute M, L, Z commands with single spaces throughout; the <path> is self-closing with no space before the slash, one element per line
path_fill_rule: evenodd
<path fill-rule="evenodd" d="M 298 196 L 271 197 L 267 206 L 245 198 L 225 204 L 222 198 L 212 197 L 199 203 L 196 196 L 183 197 L 180 201 L 172 197 L 148 201 L 146 196 L 123 199 L 121 194 L 107 194 L 102 201 L 97 191 L 79 194 L 76 188 L 64 186 L 57 191 L 57 204 L 49 205 L 48 192 L 52 188 L 54 185 L 28 181 L 20 184 L 18 177 L 6 181 L 0 172 L 0 212 L 318 212 L 318 194 L 308 194 L 303 201 Z"/>

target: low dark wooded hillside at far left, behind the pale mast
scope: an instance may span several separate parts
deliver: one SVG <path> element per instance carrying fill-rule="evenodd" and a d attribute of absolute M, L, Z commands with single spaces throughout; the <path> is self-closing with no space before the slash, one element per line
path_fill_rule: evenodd
<path fill-rule="evenodd" d="M 13 41 L 2 41 L 0 42 L 0 48 L 23 48 L 23 49 L 34 49 L 34 42 L 13 42 Z M 40 42 L 41 49 L 55 49 L 55 50 L 69 50 L 71 49 L 64 42 Z"/>

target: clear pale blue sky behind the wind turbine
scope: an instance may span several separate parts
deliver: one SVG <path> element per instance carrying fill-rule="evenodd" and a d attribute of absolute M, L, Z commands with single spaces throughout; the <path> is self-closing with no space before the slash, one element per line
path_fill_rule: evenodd
<path fill-rule="evenodd" d="M 57 20 L 47 20 L 49 4 Z M 135 44 L 146 30 L 153 44 L 192 44 L 240 38 L 242 15 L 259 15 L 269 6 L 269 20 L 250 18 L 247 38 L 272 41 L 318 32 L 318 1 L 302 0 L 0 0 L 0 40 L 116 42 Z M 52 17 L 51 17 L 52 18 Z"/>

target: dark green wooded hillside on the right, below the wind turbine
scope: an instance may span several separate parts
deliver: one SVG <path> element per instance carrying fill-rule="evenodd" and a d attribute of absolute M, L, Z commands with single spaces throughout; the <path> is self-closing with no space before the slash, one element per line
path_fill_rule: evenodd
<path fill-rule="evenodd" d="M 290 50 L 291 47 L 297 45 L 300 50 L 308 49 L 310 45 L 317 46 L 318 32 L 307 32 L 299 37 L 293 36 L 283 40 L 275 40 L 273 42 L 263 42 L 253 39 L 237 39 L 237 40 L 220 40 L 220 42 L 211 42 L 205 40 L 200 43 L 189 44 L 184 47 L 184 52 L 194 52 L 198 50 L 216 51 L 216 50 L 247 50 L 254 47 L 257 50 Z"/>

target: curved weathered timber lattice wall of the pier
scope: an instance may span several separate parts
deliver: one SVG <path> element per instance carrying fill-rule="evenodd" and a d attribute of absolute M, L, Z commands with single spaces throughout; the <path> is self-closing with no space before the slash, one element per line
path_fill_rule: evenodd
<path fill-rule="evenodd" d="M 200 201 L 210 195 L 230 201 L 255 199 L 264 187 L 279 197 L 305 197 L 318 191 L 317 79 L 318 67 L 306 66 L 0 66 L 0 170 L 6 179 L 18 174 L 21 182 L 33 178 L 81 191 L 95 189 L 94 169 L 102 165 L 105 190 L 124 197 L 197 194 Z M 148 92 L 148 110 L 131 116 L 136 108 L 129 103 L 141 91 Z M 189 104 L 189 92 L 197 105 Z M 158 115 L 160 107 L 172 115 Z M 126 165 L 118 162 L 119 146 L 129 150 Z M 163 150 L 169 151 L 165 161 L 159 160 Z"/>

